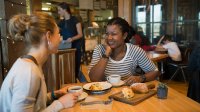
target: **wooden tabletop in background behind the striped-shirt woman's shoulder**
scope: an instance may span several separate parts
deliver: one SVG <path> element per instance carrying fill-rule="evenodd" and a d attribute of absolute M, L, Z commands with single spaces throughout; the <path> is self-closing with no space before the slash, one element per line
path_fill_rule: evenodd
<path fill-rule="evenodd" d="M 168 57 L 168 54 L 157 53 L 155 51 L 148 51 L 146 53 L 147 56 L 154 62 L 162 61 L 163 59 L 166 59 Z"/>

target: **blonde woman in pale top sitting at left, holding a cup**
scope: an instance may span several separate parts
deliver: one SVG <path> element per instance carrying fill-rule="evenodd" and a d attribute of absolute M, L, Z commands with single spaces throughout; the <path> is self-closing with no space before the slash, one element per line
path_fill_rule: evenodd
<path fill-rule="evenodd" d="M 57 112 L 72 107 L 80 93 L 66 93 L 67 88 L 63 88 L 47 94 L 42 71 L 48 56 L 57 53 L 61 41 L 53 17 L 41 12 L 18 14 L 9 20 L 8 30 L 14 40 L 25 42 L 27 52 L 16 60 L 4 79 L 0 112 Z"/>

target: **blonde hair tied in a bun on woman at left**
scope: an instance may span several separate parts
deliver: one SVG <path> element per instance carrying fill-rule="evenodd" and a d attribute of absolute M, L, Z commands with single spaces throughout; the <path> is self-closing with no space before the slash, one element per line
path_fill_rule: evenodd
<path fill-rule="evenodd" d="M 18 14 L 8 23 L 8 31 L 14 40 L 24 40 L 26 47 L 38 47 L 42 36 L 50 31 L 54 33 L 55 20 L 47 13 L 36 12 L 32 15 Z"/>

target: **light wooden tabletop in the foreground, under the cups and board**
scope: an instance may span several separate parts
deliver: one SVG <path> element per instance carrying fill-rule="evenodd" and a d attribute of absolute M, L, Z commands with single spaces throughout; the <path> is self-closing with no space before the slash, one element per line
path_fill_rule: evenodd
<path fill-rule="evenodd" d="M 151 83 L 157 85 L 158 81 Z M 108 96 L 121 91 L 122 88 L 112 88 L 106 94 L 93 95 L 92 97 L 106 100 Z M 83 109 L 78 102 L 74 107 L 64 109 L 61 112 L 200 112 L 200 104 L 169 87 L 167 99 L 158 99 L 154 95 L 135 106 L 114 100 L 110 109 Z"/>

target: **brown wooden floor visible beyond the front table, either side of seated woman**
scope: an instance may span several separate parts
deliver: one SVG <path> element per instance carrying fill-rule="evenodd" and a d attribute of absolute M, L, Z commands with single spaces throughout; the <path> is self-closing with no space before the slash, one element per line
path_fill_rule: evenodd
<path fill-rule="evenodd" d="M 81 71 L 85 75 L 87 81 L 90 82 L 90 79 L 89 79 L 89 76 L 88 76 L 88 66 L 84 65 L 84 64 L 81 65 Z M 177 81 L 170 81 L 170 82 L 168 82 L 168 80 L 164 80 L 162 82 L 167 83 L 167 85 L 169 87 L 171 87 L 171 88 L 177 90 L 178 92 L 184 94 L 185 96 L 187 96 L 188 83 L 177 82 Z"/>

